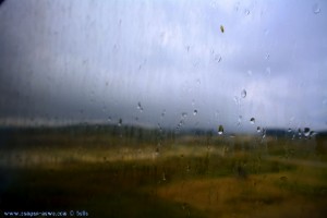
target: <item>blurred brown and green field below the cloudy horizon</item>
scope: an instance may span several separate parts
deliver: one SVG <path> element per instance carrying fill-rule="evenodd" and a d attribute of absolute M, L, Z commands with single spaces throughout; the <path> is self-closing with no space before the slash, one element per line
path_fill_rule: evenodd
<path fill-rule="evenodd" d="M 86 132 L 19 131 L 2 140 L 1 213 L 85 210 L 89 217 L 327 215 L 325 141 Z"/>

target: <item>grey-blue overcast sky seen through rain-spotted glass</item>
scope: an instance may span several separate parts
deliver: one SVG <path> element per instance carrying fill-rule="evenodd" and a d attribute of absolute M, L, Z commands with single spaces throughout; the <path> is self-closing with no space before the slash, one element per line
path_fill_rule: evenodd
<path fill-rule="evenodd" d="M 4 1 L 0 122 L 326 129 L 326 1 Z"/>

